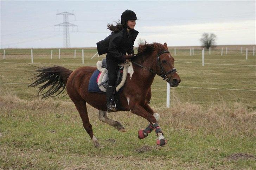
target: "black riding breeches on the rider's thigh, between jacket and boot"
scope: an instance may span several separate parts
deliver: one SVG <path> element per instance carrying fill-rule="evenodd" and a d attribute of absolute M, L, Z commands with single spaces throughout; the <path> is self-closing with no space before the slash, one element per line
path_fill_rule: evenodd
<path fill-rule="evenodd" d="M 110 86 L 115 86 L 116 69 L 118 68 L 117 64 L 119 64 L 120 62 L 114 57 L 107 57 L 106 62 L 108 67 L 108 84 Z"/>

